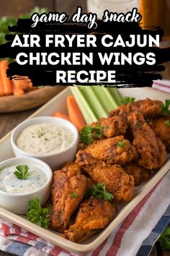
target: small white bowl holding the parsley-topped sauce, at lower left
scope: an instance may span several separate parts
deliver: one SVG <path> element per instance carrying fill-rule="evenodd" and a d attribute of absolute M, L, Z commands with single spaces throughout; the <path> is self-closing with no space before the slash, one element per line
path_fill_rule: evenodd
<path fill-rule="evenodd" d="M 39 189 L 32 192 L 12 194 L 9 192 L 4 192 L 0 189 L 0 206 L 11 211 L 12 213 L 25 214 L 29 208 L 28 202 L 30 200 L 38 197 L 41 205 L 48 200 L 48 197 L 50 196 L 50 186 L 53 172 L 50 166 L 35 158 L 10 158 L 0 163 L 0 171 L 4 167 L 17 166 L 19 164 L 35 166 L 40 171 L 44 171 L 47 176 L 47 182 L 45 182 L 45 184 Z"/>

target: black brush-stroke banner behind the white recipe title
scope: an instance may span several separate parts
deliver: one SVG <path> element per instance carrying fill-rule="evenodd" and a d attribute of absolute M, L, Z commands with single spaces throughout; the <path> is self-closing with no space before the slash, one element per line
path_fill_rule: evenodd
<path fill-rule="evenodd" d="M 64 24 L 56 24 L 48 22 L 38 23 L 35 28 L 31 27 L 32 20 L 18 20 L 17 25 L 13 27 L 9 27 L 9 31 L 12 33 L 10 35 L 6 35 L 6 40 L 8 41 L 4 45 L 0 46 L 0 58 L 10 57 L 15 59 L 17 54 L 20 52 L 29 53 L 31 52 L 84 52 L 85 54 L 89 53 L 89 51 L 94 52 L 94 65 L 91 67 L 90 64 L 84 66 L 79 65 L 65 65 L 62 66 L 58 64 L 57 66 L 37 66 L 29 64 L 20 66 L 17 62 L 12 62 L 9 64 L 9 69 L 7 70 L 7 75 L 10 78 L 19 78 L 20 76 L 28 76 L 33 82 L 34 86 L 38 85 L 56 85 L 55 82 L 55 71 L 56 70 L 76 70 L 79 72 L 80 70 L 116 70 L 116 81 L 115 83 L 109 84 L 111 86 L 117 86 L 121 88 L 129 88 L 129 87 L 151 87 L 153 84 L 153 80 L 161 80 L 161 74 L 158 72 L 164 71 L 164 62 L 170 60 L 170 48 L 148 48 L 147 46 L 144 48 L 140 48 L 138 46 L 134 46 L 133 48 L 104 48 L 101 43 L 98 43 L 97 48 L 76 48 L 76 45 L 73 48 L 45 48 L 45 34 L 89 34 L 94 33 L 97 36 L 97 42 L 99 42 L 99 38 L 104 34 L 110 35 L 122 35 L 122 38 L 128 39 L 130 34 L 134 35 L 160 35 L 160 38 L 164 35 L 164 31 L 160 26 L 152 26 L 152 27 L 141 27 L 137 22 L 102 22 L 100 20 L 97 21 L 97 29 L 92 30 L 87 27 L 84 23 L 73 23 L 66 22 Z M 20 48 L 14 47 L 11 48 L 12 40 L 14 39 L 15 34 L 36 34 L 40 35 L 41 48 Z M 161 40 L 161 39 L 160 39 Z M 121 65 L 104 65 L 97 58 L 97 52 L 102 53 L 110 53 L 110 52 L 123 52 L 124 54 L 128 54 L 128 51 L 131 51 L 133 54 L 142 52 L 146 54 L 148 52 L 153 52 L 156 54 L 156 64 L 153 66 L 148 66 L 147 64 L 143 64 L 137 66 L 135 64 L 125 64 Z M 17 77 L 16 77 L 17 74 Z M 80 84 L 79 82 L 76 82 Z M 95 85 L 101 85 L 102 83 L 95 83 Z M 72 85 L 72 83 L 62 84 L 60 85 Z M 84 83 L 81 85 L 94 85 L 94 83 Z M 105 85 L 107 86 L 107 85 Z"/>

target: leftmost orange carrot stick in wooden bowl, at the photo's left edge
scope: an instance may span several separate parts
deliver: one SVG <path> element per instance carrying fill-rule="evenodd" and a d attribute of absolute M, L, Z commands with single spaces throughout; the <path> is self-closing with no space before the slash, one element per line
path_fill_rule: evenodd
<path fill-rule="evenodd" d="M 12 81 L 6 77 L 6 69 L 8 69 L 8 61 L 6 59 L 0 62 L 0 75 L 1 75 L 1 82 L 4 88 L 4 94 L 9 95 L 12 94 Z"/>

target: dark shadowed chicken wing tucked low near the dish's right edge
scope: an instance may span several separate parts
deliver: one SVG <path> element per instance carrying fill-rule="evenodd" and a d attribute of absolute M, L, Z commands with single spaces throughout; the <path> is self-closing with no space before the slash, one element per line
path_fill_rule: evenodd
<path fill-rule="evenodd" d="M 139 166 L 138 163 L 131 162 L 127 166 L 123 167 L 124 171 L 132 175 L 135 181 L 135 186 L 140 185 L 143 182 L 146 182 L 147 179 L 151 177 L 151 171 Z"/>

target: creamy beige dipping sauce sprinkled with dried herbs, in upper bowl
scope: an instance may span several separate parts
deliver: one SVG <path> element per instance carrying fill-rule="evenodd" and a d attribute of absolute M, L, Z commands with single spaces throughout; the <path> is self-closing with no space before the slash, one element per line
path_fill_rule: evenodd
<path fill-rule="evenodd" d="M 40 123 L 24 128 L 16 142 L 18 148 L 27 153 L 45 155 L 68 148 L 73 140 L 70 129 L 57 124 Z"/>

